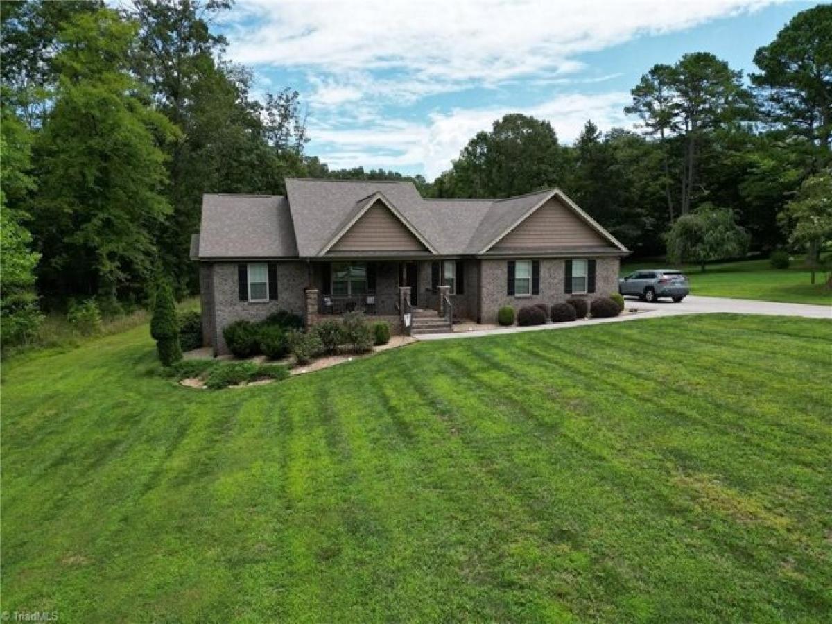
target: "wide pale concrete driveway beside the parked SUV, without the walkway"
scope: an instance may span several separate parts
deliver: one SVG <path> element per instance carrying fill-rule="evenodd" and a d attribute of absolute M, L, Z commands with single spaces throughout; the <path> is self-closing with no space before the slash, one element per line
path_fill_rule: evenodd
<path fill-rule="evenodd" d="M 656 310 L 665 314 L 770 314 L 781 316 L 805 316 L 808 319 L 832 319 L 832 305 L 781 304 L 775 301 L 727 299 L 725 297 L 697 297 L 691 295 L 680 303 L 660 300 L 648 304 L 636 297 L 625 297 L 628 308 Z M 652 316 L 652 314 L 651 314 Z"/>

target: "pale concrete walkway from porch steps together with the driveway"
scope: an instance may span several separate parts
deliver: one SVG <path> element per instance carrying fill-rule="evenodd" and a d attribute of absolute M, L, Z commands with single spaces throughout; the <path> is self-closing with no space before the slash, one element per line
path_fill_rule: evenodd
<path fill-rule="evenodd" d="M 499 329 L 480 329 L 453 334 L 423 334 L 414 336 L 418 340 L 447 340 L 454 338 L 477 338 L 497 334 L 519 334 L 527 331 L 545 331 L 548 329 L 568 329 L 603 323 L 623 323 L 637 319 L 656 319 L 662 316 L 680 316 L 682 314 L 767 314 L 769 316 L 802 316 L 807 319 L 832 320 L 832 306 L 782 304 L 775 301 L 757 301 L 747 299 L 726 299 L 723 297 L 689 296 L 676 304 L 670 300 L 656 301 L 648 304 L 633 298 L 626 298 L 627 309 L 645 310 L 640 314 L 624 314 L 612 319 L 581 319 L 572 323 L 547 323 L 531 327 L 506 327 Z"/>

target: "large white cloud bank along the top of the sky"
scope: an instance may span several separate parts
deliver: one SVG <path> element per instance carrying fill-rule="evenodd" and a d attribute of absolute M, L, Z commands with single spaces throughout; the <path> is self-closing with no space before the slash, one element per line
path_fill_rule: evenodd
<path fill-rule="evenodd" d="M 225 27 L 236 61 L 313 70 L 311 105 L 337 106 L 575 73 L 582 52 L 779 1 L 238 0 Z"/>

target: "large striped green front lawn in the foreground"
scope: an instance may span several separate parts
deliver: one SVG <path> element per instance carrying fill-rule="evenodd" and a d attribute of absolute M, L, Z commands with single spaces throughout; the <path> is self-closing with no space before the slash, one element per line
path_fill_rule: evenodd
<path fill-rule="evenodd" d="M 146 327 L 3 367 L 2 609 L 59 622 L 820 622 L 832 322 L 422 343 L 279 384 Z"/>

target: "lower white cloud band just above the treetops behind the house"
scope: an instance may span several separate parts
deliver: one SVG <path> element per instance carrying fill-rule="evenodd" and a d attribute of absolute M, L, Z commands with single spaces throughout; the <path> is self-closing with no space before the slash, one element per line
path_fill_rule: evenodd
<path fill-rule="evenodd" d="M 364 128 L 310 128 L 316 153 L 333 168 L 364 166 L 385 169 L 423 167 L 428 180 L 450 166 L 465 144 L 493 121 L 510 112 L 522 112 L 552 122 L 563 142 L 572 142 L 592 118 L 608 129 L 626 126 L 622 112 L 629 93 L 564 94 L 526 108 L 516 106 L 455 109 L 433 113 L 423 124 L 402 120 L 379 121 Z"/>

